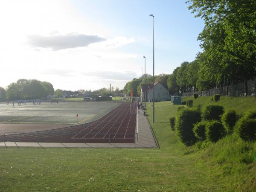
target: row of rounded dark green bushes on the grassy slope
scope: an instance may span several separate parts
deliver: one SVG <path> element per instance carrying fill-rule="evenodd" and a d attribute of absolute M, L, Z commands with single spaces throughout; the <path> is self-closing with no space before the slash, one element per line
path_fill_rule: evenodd
<path fill-rule="evenodd" d="M 256 110 L 248 111 L 239 119 L 236 111 L 224 113 L 224 108 L 219 105 L 207 105 L 202 111 L 201 106 L 178 108 L 177 116 L 170 119 L 170 125 L 185 145 L 203 140 L 217 142 L 226 134 L 232 134 L 234 127 L 242 140 L 256 140 Z"/>

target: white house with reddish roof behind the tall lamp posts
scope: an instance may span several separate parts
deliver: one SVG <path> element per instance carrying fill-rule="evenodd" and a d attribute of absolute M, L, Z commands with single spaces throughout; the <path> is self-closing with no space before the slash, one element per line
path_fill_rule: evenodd
<path fill-rule="evenodd" d="M 145 87 L 144 87 L 145 86 Z M 140 99 L 147 102 L 152 101 L 153 98 L 153 84 L 142 84 L 140 89 Z M 144 93 L 145 90 L 145 93 Z M 163 86 L 160 82 L 154 82 L 154 100 L 166 101 L 170 99 L 169 90 Z"/>

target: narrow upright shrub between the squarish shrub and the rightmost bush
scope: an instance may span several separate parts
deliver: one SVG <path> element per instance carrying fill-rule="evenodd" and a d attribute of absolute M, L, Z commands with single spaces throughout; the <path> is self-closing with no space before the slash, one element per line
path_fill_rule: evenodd
<path fill-rule="evenodd" d="M 227 133 L 233 132 L 233 127 L 236 125 L 236 121 L 238 119 L 237 117 L 238 116 L 235 110 L 229 110 L 222 115 L 221 122 L 224 125 Z"/>

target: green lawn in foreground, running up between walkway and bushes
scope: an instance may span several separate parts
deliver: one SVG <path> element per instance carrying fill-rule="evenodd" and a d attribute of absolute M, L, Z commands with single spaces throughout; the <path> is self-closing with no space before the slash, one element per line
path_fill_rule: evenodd
<path fill-rule="evenodd" d="M 255 150 L 255 144 L 230 136 L 205 149 L 187 148 L 169 127 L 178 106 L 155 107 L 151 125 L 160 149 L 0 148 L 0 191 L 256 189 L 256 163 L 239 162 L 243 149 Z M 151 122 L 149 103 L 147 108 Z"/>

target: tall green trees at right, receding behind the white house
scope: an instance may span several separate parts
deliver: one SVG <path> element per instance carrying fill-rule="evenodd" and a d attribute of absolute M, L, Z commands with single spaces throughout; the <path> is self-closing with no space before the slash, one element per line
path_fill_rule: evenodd
<path fill-rule="evenodd" d="M 238 84 L 256 77 L 255 0 L 188 0 L 189 10 L 204 19 L 198 35 L 202 52 L 192 62 L 183 62 L 160 81 L 172 95 Z M 125 84 L 124 93 L 140 95 L 144 77 Z M 146 83 L 153 82 L 146 74 Z"/>

